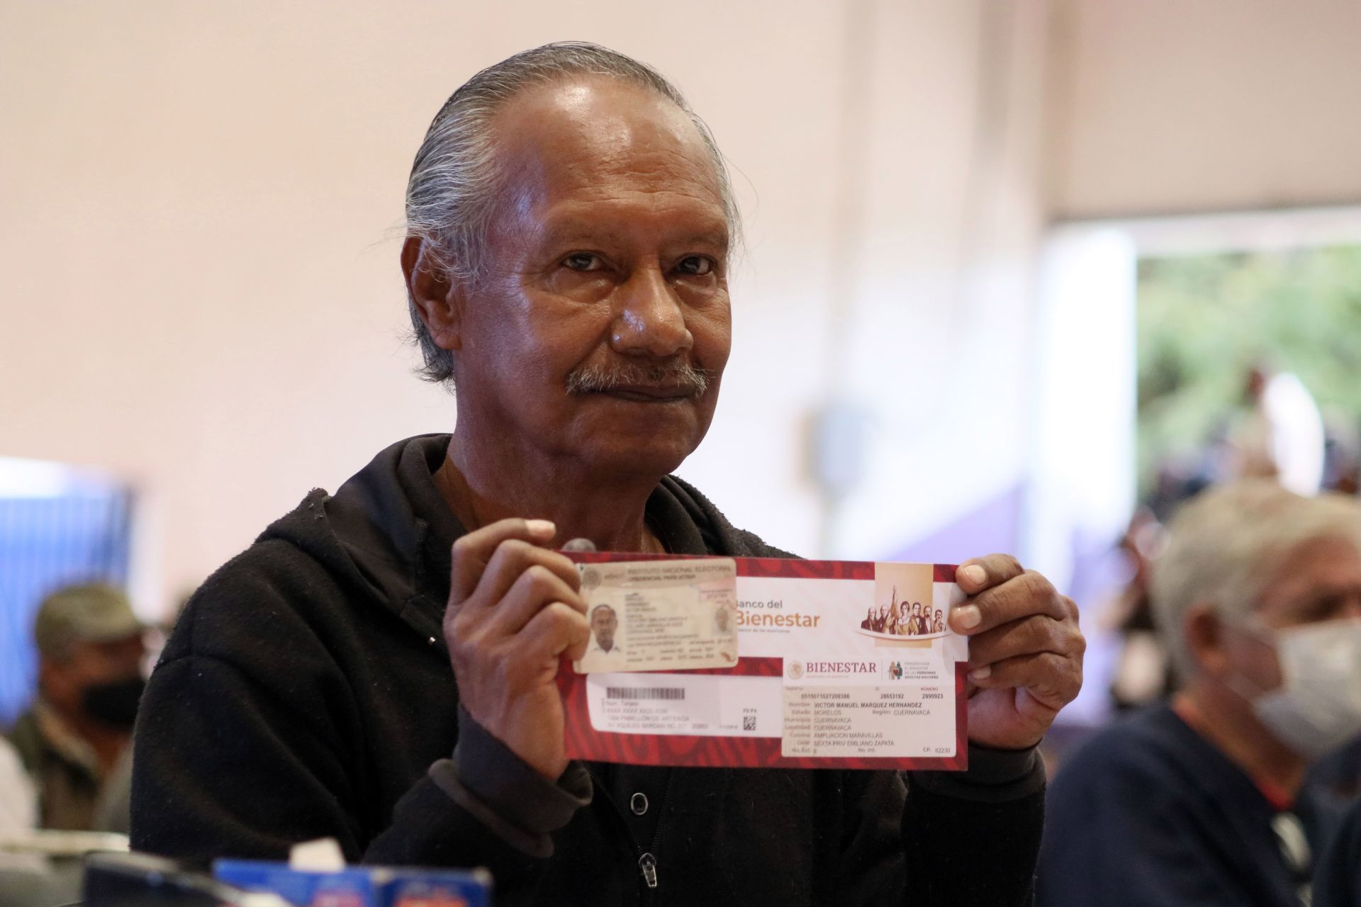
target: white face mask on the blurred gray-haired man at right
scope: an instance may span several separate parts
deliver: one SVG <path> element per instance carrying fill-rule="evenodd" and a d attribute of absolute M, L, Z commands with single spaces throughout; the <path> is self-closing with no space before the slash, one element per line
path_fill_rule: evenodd
<path fill-rule="evenodd" d="M 1361 733 L 1361 617 L 1271 631 L 1281 685 L 1252 699 L 1258 719 L 1317 759 Z"/>

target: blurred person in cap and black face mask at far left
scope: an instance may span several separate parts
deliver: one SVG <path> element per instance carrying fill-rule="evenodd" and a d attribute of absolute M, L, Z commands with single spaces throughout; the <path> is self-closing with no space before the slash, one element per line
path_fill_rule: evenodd
<path fill-rule="evenodd" d="M 44 828 L 125 831 L 128 748 L 146 681 L 144 626 L 103 583 L 48 596 L 34 620 L 38 696 L 10 732 Z M 121 825 L 121 828 L 120 828 Z"/>

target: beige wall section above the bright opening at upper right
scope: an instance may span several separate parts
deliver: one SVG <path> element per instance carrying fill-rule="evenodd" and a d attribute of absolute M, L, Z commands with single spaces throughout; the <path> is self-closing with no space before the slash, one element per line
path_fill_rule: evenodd
<path fill-rule="evenodd" d="M 1361 4 L 1064 0 L 1057 218 L 1361 200 Z"/>

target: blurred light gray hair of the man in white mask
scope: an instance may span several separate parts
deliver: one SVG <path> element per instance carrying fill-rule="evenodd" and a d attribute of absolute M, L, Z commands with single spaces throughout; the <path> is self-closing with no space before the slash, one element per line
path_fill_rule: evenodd
<path fill-rule="evenodd" d="M 1361 551 L 1361 502 L 1337 494 L 1301 498 L 1268 479 L 1234 481 L 1183 504 L 1153 562 L 1149 600 L 1158 635 L 1181 681 L 1196 670 L 1183 620 L 1210 605 L 1243 623 L 1304 543 L 1337 538 Z"/>

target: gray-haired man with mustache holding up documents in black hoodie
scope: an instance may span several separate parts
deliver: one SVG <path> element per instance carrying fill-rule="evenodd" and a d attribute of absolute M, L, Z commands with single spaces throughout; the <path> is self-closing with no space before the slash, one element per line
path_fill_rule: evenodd
<path fill-rule="evenodd" d="M 563 753 L 589 638 L 572 538 L 783 552 L 670 476 L 728 359 L 735 212 L 652 69 L 550 45 L 464 84 L 416 155 L 401 252 L 452 435 L 313 492 L 189 602 L 139 726 L 133 843 L 489 866 L 497 903 L 1025 903 L 1034 747 L 1081 681 L 1072 602 L 969 562 L 964 774 L 656 768 Z"/>

